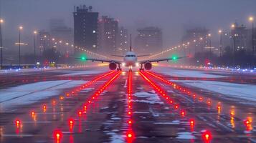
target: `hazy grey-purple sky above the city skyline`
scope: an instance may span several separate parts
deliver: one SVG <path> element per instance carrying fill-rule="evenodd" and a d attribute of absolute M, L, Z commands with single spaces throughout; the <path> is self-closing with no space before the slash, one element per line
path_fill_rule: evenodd
<path fill-rule="evenodd" d="M 256 0 L 0 0 L 4 39 L 17 39 L 17 27 L 24 26 L 27 42 L 34 29 L 47 29 L 48 20 L 65 19 L 72 27 L 74 5 L 93 6 L 100 15 L 112 16 L 132 31 L 138 26 L 163 29 L 163 45 L 176 45 L 188 26 L 205 26 L 217 41 L 217 30 L 229 29 L 237 20 L 251 26 L 256 17 Z M 24 35 L 25 35 L 24 34 Z M 31 38 L 32 39 L 32 38 Z"/>

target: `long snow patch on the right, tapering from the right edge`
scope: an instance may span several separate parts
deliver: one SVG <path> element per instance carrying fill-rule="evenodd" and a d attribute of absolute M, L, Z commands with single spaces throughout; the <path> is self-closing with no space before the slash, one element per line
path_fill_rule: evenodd
<path fill-rule="evenodd" d="M 253 84 L 233 84 L 229 82 L 213 82 L 213 81 L 193 81 L 193 80 L 179 80 L 193 87 L 207 89 L 212 92 L 224 94 L 228 97 L 237 97 L 256 102 L 256 85 Z"/>

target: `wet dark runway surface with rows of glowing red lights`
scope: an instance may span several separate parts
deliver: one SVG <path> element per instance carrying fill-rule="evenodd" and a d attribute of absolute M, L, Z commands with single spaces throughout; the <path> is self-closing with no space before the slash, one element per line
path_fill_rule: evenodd
<path fill-rule="evenodd" d="M 184 82 L 255 86 L 255 77 L 212 75 L 225 77 L 89 67 L 0 74 L 0 141 L 256 142 L 253 100 Z"/>

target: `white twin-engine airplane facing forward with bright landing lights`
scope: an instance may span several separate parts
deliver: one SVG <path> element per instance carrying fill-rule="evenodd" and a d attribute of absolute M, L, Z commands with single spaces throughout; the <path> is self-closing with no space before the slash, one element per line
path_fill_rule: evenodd
<path fill-rule="evenodd" d="M 137 55 L 134 51 L 132 51 L 131 44 L 130 44 L 130 50 L 128 52 L 126 52 L 124 56 L 120 56 L 120 55 L 113 55 L 113 56 L 123 57 L 123 61 L 108 60 L 108 59 L 93 59 L 93 58 L 87 58 L 87 59 L 84 58 L 84 59 L 87 60 L 87 61 L 108 62 L 110 70 L 115 70 L 115 69 L 117 69 L 118 71 L 122 70 L 121 66 L 129 67 L 129 69 L 132 69 L 133 66 L 141 66 L 140 67 L 140 71 L 144 71 L 144 68 L 146 70 L 151 70 L 153 62 L 171 61 L 171 60 L 176 60 L 176 59 L 184 58 L 184 57 L 176 57 L 176 56 L 174 56 L 174 57 L 171 57 L 171 58 L 148 59 L 148 60 L 138 61 L 138 57 L 149 56 L 149 55 Z"/>

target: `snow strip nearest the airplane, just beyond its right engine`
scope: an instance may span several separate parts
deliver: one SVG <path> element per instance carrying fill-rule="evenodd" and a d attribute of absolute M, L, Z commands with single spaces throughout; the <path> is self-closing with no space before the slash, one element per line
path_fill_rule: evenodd
<path fill-rule="evenodd" d="M 161 74 L 166 74 L 172 77 L 198 77 L 198 78 L 226 77 L 221 75 L 214 75 L 212 74 L 213 71 L 196 71 L 196 70 L 161 68 L 161 69 L 158 69 L 157 72 Z"/>

